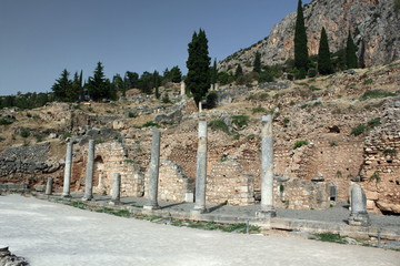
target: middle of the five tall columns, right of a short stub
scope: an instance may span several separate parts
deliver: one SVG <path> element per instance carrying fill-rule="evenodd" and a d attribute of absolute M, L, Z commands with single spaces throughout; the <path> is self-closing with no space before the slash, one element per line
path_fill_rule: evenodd
<path fill-rule="evenodd" d="M 151 161 L 149 168 L 149 190 L 148 203 L 143 206 L 146 209 L 157 209 L 160 208 L 158 205 L 158 178 L 159 178 L 159 168 L 160 168 L 160 139 L 161 133 L 159 130 L 152 130 L 152 141 L 151 141 Z"/>

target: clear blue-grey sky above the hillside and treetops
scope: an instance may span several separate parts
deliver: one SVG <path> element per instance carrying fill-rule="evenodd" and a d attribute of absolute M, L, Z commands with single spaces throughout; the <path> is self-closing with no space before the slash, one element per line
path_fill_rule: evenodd
<path fill-rule="evenodd" d="M 297 2 L 0 0 L 0 95 L 51 91 L 63 69 L 87 79 L 99 61 L 109 79 L 174 65 L 186 73 L 194 31 L 204 29 L 219 61 L 266 38 Z"/>

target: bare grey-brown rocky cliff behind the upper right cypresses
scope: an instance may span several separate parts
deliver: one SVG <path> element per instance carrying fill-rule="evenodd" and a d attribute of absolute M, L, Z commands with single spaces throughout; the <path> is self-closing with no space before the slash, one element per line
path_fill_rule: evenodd
<path fill-rule="evenodd" d="M 394 12 L 393 0 L 313 0 L 303 12 L 309 54 L 318 53 L 324 27 L 331 52 L 346 47 L 350 30 L 358 47 L 358 57 L 366 66 L 400 58 L 400 13 Z M 262 54 L 262 63 L 268 65 L 292 59 L 294 23 L 296 12 L 276 24 L 268 38 L 221 61 L 219 69 L 234 71 L 240 63 L 243 69 L 250 70 L 257 51 Z"/>

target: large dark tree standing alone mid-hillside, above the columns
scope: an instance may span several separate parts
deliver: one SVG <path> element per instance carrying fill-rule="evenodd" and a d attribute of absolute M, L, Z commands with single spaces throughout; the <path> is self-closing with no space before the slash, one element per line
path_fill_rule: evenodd
<path fill-rule="evenodd" d="M 186 79 L 187 90 L 190 91 L 198 104 L 206 96 L 210 88 L 210 58 L 208 52 L 208 40 L 206 32 L 194 32 L 188 44 L 188 75 Z"/>

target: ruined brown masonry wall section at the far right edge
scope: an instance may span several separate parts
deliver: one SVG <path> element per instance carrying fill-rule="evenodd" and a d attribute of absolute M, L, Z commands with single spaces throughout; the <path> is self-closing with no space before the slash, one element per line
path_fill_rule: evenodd
<path fill-rule="evenodd" d="M 400 99 L 384 105 L 381 124 L 366 139 L 361 186 L 369 209 L 400 213 Z"/>

